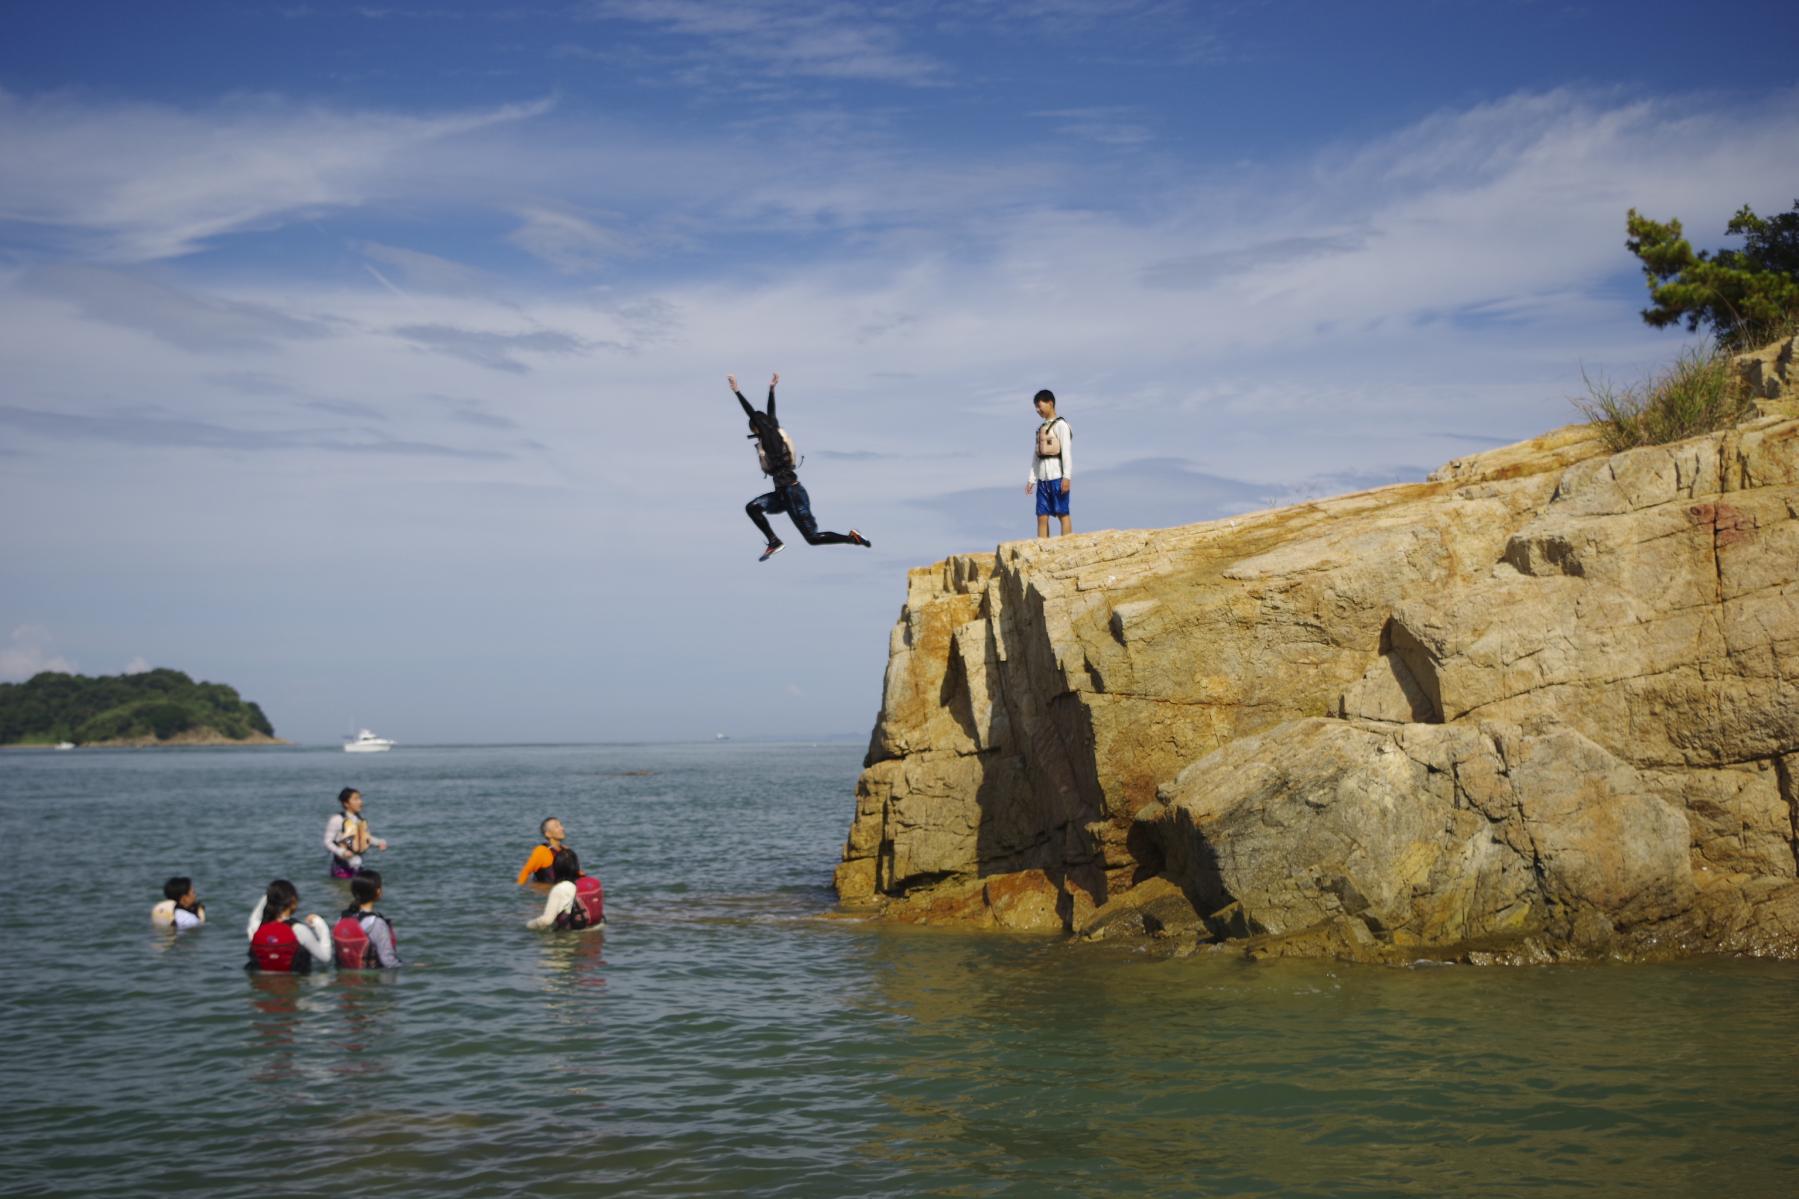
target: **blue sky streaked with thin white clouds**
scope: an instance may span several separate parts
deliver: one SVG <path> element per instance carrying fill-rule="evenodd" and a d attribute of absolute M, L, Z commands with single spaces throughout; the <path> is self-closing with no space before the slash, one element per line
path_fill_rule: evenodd
<path fill-rule="evenodd" d="M 1799 196 L 1792 5 L 16 5 L 0 679 L 277 729 L 862 733 L 905 569 L 1567 423 L 1624 209 Z M 766 565 L 723 385 L 824 527 Z"/>

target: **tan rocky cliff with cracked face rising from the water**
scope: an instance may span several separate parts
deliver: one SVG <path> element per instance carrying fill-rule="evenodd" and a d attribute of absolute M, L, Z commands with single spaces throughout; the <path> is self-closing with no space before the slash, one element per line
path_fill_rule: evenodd
<path fill-rule="evenodd" d="M 1799 956 L 1794 344 L 1736 428 L 910 572 L 837 871 L 1186 952 Z"/>

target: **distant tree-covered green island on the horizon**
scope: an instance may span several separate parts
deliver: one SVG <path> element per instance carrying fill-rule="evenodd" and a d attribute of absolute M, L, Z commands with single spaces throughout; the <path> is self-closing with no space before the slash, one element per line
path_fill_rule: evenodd
<path fill-rule="evenodd" d="M 178 670 L 0 682 L 0 745 L 284 745 L 263 709 Z"/>

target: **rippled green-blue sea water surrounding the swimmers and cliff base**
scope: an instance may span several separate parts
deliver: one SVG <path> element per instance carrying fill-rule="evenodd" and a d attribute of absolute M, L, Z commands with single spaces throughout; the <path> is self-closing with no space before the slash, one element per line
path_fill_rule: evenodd
<path fill-rule="evenodd" d="M 860 747 L 0 754 L 9 1195 L 1790 1195 L 1799 967 L 1249 967 L 831 918 Z M 396 974 L 335 918 L 363 789 Z M 543 816 L 603 934 L 524 929 Z M 167 875 L 210 924 L 153 933 Z"/>

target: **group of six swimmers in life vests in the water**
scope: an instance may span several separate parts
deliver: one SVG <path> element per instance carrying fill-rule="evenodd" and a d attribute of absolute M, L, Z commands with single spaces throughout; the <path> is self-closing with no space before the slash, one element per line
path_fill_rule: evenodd
<path fill-rule="evenodd" d="M 543 843 L 531 850 L 518 884 L 549 884 L 543 913 L 531 918 L 527 929 L 599 929 L 606 924 L 604 889 L 599 879 L 583 873 L 581 859 L 565 843 L 567 832 L 559 819 L 547 817 L 538 830 Z M 362 792 L 345 787 L 338 792 L 338 812 L 326 823 L 326 850 L 333 879 L 349 882 L 351 904 L 335 925 L 326 925 L 317 913 L 299 916 L 300 893 L 286 879 L 275 879 L 257 900 L 245 934 L 250 938 L 246 970 L 261 974 L 306 974 L 313 963 L 336 965 L 340 970 L 396 969 L 399 940 L 394 924 L 376 911 L 381 900 L 381 875 L 362 864 L 369 848 L 385 850 L 387 843 L 374 837 L 362 814 Z M 175 933 L 198 929 L 207 922 L 207 906 L 194 893 L 187 877 L 169 879 L 162 886 L 162 902 L 149 909 L 151 924 Z"/>

